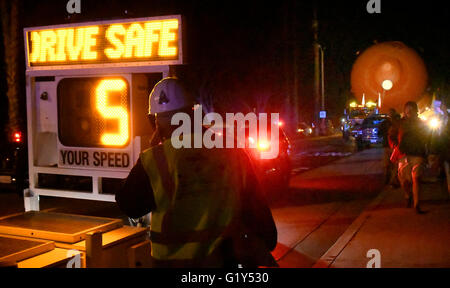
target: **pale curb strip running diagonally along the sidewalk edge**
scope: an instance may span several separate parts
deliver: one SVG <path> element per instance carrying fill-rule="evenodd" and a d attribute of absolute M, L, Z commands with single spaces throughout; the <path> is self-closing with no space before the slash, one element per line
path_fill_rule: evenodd
<path fill-rule="evenodd" d="M 348 243 L 355 237 L 361 227 L 370 217 L 371 212 L 379 206 L 379 204 L 386 198 L 392 189 L 385 186 L 378 196 L 370 202 L 363 212 L 353 221 L 352 224 L 345 230 L 345 232 L 336 240 L 327 252 L 312 266 L 312 268 L 330 268 L 336 258 L 347 247 Z"/>

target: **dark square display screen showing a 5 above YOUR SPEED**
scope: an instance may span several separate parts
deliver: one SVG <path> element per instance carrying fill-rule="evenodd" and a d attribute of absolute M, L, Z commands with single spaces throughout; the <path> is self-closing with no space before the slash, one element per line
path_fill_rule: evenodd
<path fill-rule="evenodd" d="M 130 138 L 128 82 L 65 78 L 58 84 L 59 139 L 71 147 L 123 147 Z"/>

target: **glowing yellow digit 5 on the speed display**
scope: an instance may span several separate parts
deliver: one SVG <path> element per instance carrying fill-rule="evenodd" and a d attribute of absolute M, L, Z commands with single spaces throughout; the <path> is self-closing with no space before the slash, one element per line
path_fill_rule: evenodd
<path fill-rule="evenodd" d="M 127 85 L 123 79 L 105 79 L 100 81 L 96 88 L 97 110 L 106 119 L 117 119 L 119 121 L 118 133 L 105 133 L 101 136 L 104 145 L 122 146 L 128 142 L 128 111 L 123 106 L 108 106 L 108 92 L 122 92 L 121 102 L 126 99 Z"/>

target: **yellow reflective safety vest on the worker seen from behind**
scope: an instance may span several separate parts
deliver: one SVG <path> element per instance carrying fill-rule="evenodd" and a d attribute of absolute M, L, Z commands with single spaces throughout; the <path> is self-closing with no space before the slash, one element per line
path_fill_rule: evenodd
<path fill-rule="evenodd" d="M 151 218 L 154 259 L 201 260 L 229 236 L 245 187 L 241 152 L 175 149 L 169 139 L 141 154 L 156 203 Z"/>

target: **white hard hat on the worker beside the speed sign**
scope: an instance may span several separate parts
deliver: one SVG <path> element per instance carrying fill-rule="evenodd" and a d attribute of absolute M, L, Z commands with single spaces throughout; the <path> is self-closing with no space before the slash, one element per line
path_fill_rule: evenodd
<path fill-rule="evenodd" d="M 156 83 L 148 98 L 148 104 L 148 114 L 155 115 L 192 107 L 194 100 L 177 78 L 168 77 Z"/>

